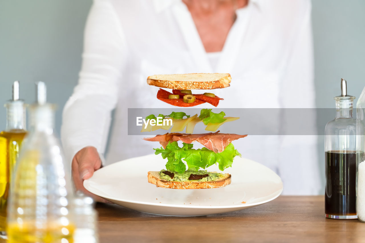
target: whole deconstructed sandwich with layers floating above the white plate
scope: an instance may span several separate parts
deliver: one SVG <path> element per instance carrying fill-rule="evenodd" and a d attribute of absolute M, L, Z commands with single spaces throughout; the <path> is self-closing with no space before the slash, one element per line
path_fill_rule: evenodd
<path fill-rule="evenodd" d="M 230 74 L 170 74 L 153 75 L 147 78 L 149 85 L 173 89 L 172 92 L 160 89 L 157 98 L 174 106 L 190 107 L 202 103 L 218 106 L 222 98 L 213 93 L 193 94 L 192 89 L 220 89 L 230 86 Z M 201 92 L 194 92 L 201 93 Z M 224 117 L 225 113 L 212 112 L 212 109 L 202 109 L 199 117 L 190 117 L 184 112 L 173 112 L 170 115 L 159 114 L 157 117 L 174 120 L 173 126 L 164 126 L 162 129 L 172 131 L 155 137 L 144 138 L 146 141 L 160 142 L 161 148 L 154 149 L 155 154 L 160 154 L 167 159 L 166 169 L 149 171 L 148 181 L 157 187 L 173 189 L 203 189 L 224 187 L 231 183 L 231 175 L 221 172 L 208 172 L 205 169 L 218 164 L 220 171 L 232 166 L 233 158 L 241 156 L 231 143 L 247 135 L 215 132 L 224 122 L 234 121 L 236 117 Z M 187 117 L 184 118 L 183 117 Z M 146 119 L 156 118 L 154 114 Z M 205 130 L 214 132 L 192 134 L 198 122 L 206 125 Z M 183 131 L 187 133 L 176 133 Z M 149 130 L 157 130 L 149 127 Z M 143 129 L 142 129 L 143 131 Z M 145 130 L 147 131 L 147 130 Z M 178 144 L 182 142 L 182 145 Z M 204 147 L 194 149 L 193 142 L 199 142 Z"/>

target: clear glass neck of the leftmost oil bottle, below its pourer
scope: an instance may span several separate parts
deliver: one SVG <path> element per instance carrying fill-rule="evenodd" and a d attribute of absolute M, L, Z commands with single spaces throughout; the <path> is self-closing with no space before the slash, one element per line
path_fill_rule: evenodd
<path fill-rule="evenodd" d="M 6 131 L 11 130 L 25 130 L 26 129 L 26 113 L 25 105 L 21 100 L 9 101 L 5 104 L 7 108 L 6 113 Z"/>

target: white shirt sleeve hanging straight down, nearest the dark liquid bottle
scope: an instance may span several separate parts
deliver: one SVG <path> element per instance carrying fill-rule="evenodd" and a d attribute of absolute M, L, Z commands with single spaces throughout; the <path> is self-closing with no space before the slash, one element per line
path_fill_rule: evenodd
<path fill-rule="evenodd" d="M 305 3 L 303 21 L 293 35 L 293 42 L 281 80 L 281 123 L 278 172 L 284 194 L 312 195 L 321 188 L 317 156 L 314 54 L 311 27 L 311 3 Z M 310 108 L 310 109 L 303 109 Z M 295 111 L 294 111 L 295 109 Z M 303 113 L 302 113 L 303 112 Z M 303 115 L 305 113 L 305 115 Z M 299 124 L 291 116 L 302 114 L 312 134 L 298 135 Z M 297 118 L 296 118 L 297 119 Z M 290 128 L 290 132 L 288 132 Z M 294 130 L 293 130 L 294 128 Z M 302 129 L 303 130 L 303 129 Z M 294 132 L 297 132 L 293 134 Z M 290 135 L 291 134 L 291 135 Z"/>

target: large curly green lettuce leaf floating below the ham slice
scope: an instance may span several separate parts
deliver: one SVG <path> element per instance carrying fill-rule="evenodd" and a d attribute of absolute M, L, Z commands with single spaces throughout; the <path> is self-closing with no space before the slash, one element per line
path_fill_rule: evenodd
<path fill-rule="evenodd" d="M 240 156 L 241 154 L 234 149 L 232 143 L 230 143 L 226 149 L 221 153 L 215 153 L 207 148 L 193 149 L 192 144 L 186 144 L 183 142 L 183 146 L 178 146 L 177 142 L 169 142 L 166 148 L 154 149 L 155 154 L 160 154 L 162 158 L 167 158 L 166 169 L 171 172 L 183 173 L 186 170 L 186 166 L 183 160 L 188 165 L 188 169 L 192 171 L 198 171 L 199 168 L 205 169 L 211 165 L 218 164 L 221 171 L 231 167 L 233 158 Z"/>

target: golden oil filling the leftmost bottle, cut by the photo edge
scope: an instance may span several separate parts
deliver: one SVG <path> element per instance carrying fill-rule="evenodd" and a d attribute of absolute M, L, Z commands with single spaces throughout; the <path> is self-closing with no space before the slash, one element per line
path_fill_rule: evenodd
<path fill-rule="evenodd" d="M 6 231 L 9 183 L 25 135 L 18 129 L 0 132 L 0 231 Z"/>

